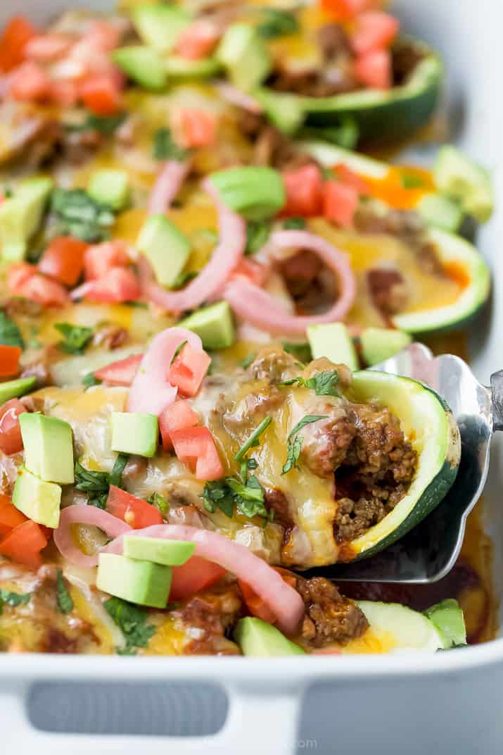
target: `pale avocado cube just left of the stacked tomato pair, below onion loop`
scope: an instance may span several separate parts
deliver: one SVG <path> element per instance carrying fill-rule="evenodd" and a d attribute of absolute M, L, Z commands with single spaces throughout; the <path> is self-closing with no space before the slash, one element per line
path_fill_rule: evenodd
<path fill-rule="evenodd" d="M 112 451 L 150 458 L 159 436 L 158 418 L 141 411 L 112 411 Z"/>

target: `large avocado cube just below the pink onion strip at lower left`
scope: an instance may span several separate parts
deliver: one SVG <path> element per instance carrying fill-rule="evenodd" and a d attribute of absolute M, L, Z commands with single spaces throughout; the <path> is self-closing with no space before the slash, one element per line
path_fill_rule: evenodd
<path fill-rule="evenodd" d="M 170 595 L 171 569 L 152 561 L 100 553 L 96 586 L 104 593 L 140 606 L 165 609 Z"/>

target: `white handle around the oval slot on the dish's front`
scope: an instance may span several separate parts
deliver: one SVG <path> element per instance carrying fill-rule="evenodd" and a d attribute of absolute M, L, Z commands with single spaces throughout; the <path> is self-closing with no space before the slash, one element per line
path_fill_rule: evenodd
<path fill-rule="evenodd" d="M 29 686 L 0 682 L 0 725 L 2 755 L 36 752 L 38 755 L 236 755 L 274 753 L 294 755 L 299 709 L 303 689 L 285 683 L 264 689 L 263 683 L 224 684 L 228 695 L 228 716 L 215 735 L 201 737 L 158 737 L 136 735 L 89 735 L 41 732 L 26 716 Z M 6 747 L 6 749 L 5 749 Z"/>

